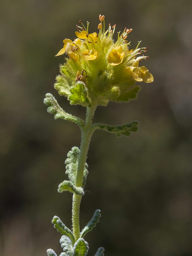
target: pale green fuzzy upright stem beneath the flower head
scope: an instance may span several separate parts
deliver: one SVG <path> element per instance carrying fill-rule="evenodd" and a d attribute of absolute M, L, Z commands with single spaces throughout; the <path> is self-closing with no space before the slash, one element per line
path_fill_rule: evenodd
<path fill-rule="evenodd" d="M 85 125 L 84 125 L 84 128 L 81 129 L 81 147 L 80 147 L 79 163 L 78 163 L 77 178 L 76 178 L 77 187 L 82 187 L 84 166 L 87 159 L 89 144 L 90 144 L 92 133 L 93 133 L 93 130 L 91 129 L 92 119 L 93 119 L 96 108 L 97 106 L 93 106 L 91 108 L 87 107 Z M 75 237 L 75 241 L 80 236 L 79 208 L 81 204 L 81 198 L 82 196 L 77 195 L 75 193 L 73 194 L 72 226 L 73 226 L 73 235 Z"/>

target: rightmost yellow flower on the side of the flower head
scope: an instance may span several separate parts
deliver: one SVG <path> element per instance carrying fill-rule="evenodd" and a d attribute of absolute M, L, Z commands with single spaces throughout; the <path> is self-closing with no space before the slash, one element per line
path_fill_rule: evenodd
<path fill-rule="evenodd" d="M 139 61 L 136 61 L 134 66 L 125 68 L 126 73 L 137 82 L 153 82 L 153 75 L 148 71 L 145 66 L 138 67 L 138 62 Z"/>

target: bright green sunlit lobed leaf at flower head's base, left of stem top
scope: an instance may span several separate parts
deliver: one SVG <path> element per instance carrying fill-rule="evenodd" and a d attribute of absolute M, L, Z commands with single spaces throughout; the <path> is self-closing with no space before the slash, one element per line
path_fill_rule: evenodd
<path fill-rule="evenodd" d="M 68 97 L 70 104 L 79 104 L 84 107 L 92 105 L 84 82 L 78 81 L 75 87 L 70 89 L 70 92 L 72 94 Z"/>

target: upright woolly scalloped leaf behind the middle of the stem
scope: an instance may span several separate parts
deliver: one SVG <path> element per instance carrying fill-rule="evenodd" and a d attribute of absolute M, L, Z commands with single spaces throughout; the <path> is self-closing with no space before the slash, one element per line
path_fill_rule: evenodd
<path fill-rule="evenodd" d="M 68 158 L 65 161 L 66 164 L 66 174 L 68 174 L 69 180 L 72 184 L 76 185 L 76 176 L 77 176 L 77 168 L 78 168 L 78 161 L 79 161 L 79 154 L 80 149 L 77 147 L 73 147 L 67 154 Z M 88 165 L 85 163 L 84 172 L 83 172 L 83 184 L 82 187 L 84 188 L 87 174 L 88 174 Z"/>

